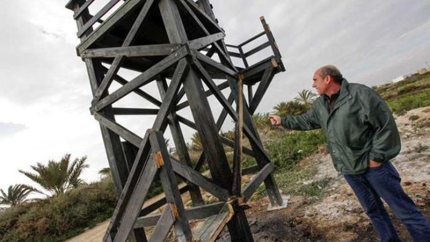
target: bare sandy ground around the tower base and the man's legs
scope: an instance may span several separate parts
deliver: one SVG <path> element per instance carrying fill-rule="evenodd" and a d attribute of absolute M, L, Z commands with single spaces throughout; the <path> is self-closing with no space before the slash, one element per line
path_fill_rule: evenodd
<path fill-rule="evenodd" d="M 419 118 L 411 121 L 409 117 L 412 115 Z M 430 107 L 410 110 L 406 115 L 396 117 L 396 122 L 402 136 L 402 151 L 392 163 L 402 177 L 405 191 L 430 219 L 430 149 L 425 149 L 430 145 Z M 303 182 L 330 179 L 323 199 L 312 202 L 308 198 L 291 196 L 286 209 L 273 212 L 266 212 L 267 198 L 250 202 L 251 208 L 246 213 L 255 241 L 378 241 L 370 220 L 344 178 L 334 170 L 329 155 L 314 154 L 301 163 L 318 168 L 314 177 Z M 184 200 L 188 205 L 189 198 Z M 392 219 L 402 241 L 411 241 L 406 227 L 394 217 Z M 66 242 L 101 242 L 107 226 L 108 221 L 105 221 Z M 226 229 L 218 241 L 230 241 Z"/>

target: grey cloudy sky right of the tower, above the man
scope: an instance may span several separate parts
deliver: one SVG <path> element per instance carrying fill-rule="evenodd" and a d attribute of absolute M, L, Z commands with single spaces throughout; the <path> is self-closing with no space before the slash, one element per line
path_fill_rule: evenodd
<path fill-rule="evenodd" d="M 261 31 L 264 15 L 287 71 L 275 77 L 258 111 L 270 111 L 303 88 L 313 71 L 337 65 L 351 82 L 374 85 L 414 71 L 430 54 L 430 2 L 213 1 L 215 15 L 236 44 Z M 417 67 L 415 67 L 417 66 Z"/>

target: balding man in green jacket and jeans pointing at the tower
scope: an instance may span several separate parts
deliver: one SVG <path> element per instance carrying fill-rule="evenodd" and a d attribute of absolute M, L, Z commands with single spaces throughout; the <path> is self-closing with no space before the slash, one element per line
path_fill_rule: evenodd
<path fill-rule="evenodd" d="M 405 223 L 414 242 L 430 242 L 430 223 L 403 191 L 390 163 L 401 145 L 387 104 L 372 88 L 349 84 L 335 66 L 319 68 L 313 80 L 321 96 L 312 109 L 298 116 L 270 115 L 271 123 L 293 130 L 323 129 L 336 170 L 351 186 L 381 242 L 400 241 L 381 198 Z"/>

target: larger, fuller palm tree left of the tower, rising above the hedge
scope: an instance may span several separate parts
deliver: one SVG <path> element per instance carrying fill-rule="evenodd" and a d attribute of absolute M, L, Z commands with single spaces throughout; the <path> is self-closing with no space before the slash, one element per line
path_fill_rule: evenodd
<path fill-rule="evenodd" d="M 38 162 L 35 166 L 31 166 L 36 173 L 19 171 L 39 183 L 52 195 L 57 196 L 84 183 L 79 176 L 85 168 L 89 167 L 85 161 L 86 156 L 70 162 L 70 154 L 65 154 L 59 162 L 49 160 L 47 165 Z"/>

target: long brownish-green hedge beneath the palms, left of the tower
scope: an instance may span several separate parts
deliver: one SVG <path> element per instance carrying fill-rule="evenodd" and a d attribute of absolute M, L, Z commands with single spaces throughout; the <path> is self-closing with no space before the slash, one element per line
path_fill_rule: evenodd
<path fill-rule="evenodd" d="M 57 197 L 9 208 L 0 215 L 0 242 L 60 242 L 108 219 L 116 205 L 111 179 Z"/>

